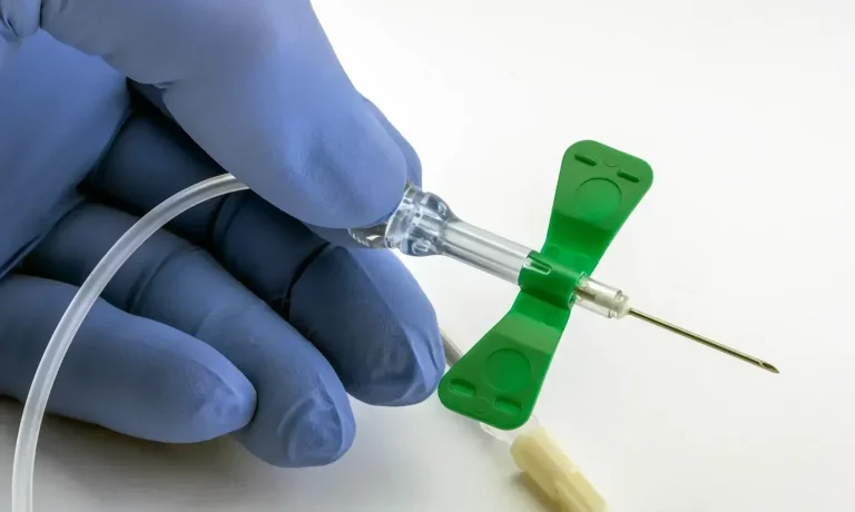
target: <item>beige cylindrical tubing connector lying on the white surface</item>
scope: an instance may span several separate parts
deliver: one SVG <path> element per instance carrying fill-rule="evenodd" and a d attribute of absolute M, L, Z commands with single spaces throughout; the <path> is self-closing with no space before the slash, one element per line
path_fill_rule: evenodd
<path fill-rule="evenodd" d="M 560 508 L 561 512 L 605 512 L 606 501 L 546 429 L 521 434 L 511 445 L 517 466 Z"/>

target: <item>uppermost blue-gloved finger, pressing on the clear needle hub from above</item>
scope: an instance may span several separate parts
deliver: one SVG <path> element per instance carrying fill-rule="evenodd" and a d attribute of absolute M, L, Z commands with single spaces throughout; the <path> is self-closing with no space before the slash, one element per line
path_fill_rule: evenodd
<path fill-rule="evenodd" d="M 160 88 L 206 152 L 299 220 L 368 226 L 397 206 L 409 158 L 308 1 L 46 0 L 40 17 L 57 39 Z"/>

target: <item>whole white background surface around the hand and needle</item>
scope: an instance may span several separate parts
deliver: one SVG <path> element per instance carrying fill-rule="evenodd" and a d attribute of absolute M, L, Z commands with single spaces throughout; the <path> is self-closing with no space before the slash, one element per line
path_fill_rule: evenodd
<path fill-rule="evenodd" d="M 596 277 L 773 375 L 633 319 L 573 314 L 538 415 L 611 512 L 855 510 L 855 4 L 849 0 L 318 0 L 352 78 L 466 220 L 542 243 L 563 150 L 650 163 Z M 515 291 L 409 260 L 464 347 Z M 20 408 L 0 404 L 9 482 Z M 546 510 L 436 400 L 356 407 L 352 452 L 281 471 L 222 441 L 51 420 L 37 510 Z M 8 510 L 8 486 L 0 511 Z"/>

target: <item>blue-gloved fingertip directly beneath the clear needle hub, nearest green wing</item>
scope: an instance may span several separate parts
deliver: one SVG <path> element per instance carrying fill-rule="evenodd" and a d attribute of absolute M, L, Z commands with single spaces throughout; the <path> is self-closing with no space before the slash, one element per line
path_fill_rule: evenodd
<path fill-rule="evenodd" d="M 428 398 L 444 372 L 436 314 L 391 253 L 332 247 L 294 287 L 291 322 L 321 348 L 355 398 Z"/>

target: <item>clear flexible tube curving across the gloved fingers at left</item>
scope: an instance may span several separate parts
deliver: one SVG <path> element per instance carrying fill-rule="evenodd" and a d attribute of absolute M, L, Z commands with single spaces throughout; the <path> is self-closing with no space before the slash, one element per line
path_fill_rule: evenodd
<path fill-rule="evenodd" d="M 12 512 L 32 512 L 32 475 L 36 464 L 36 445 L 50 390 L 71 341 L 83 323 L 101 292 L 121 265 L 151 235 L 185 210 L 199 203 L 234 191 L 245 190 L 246 185 L 232 175 L 222 175 L 187 187 L 166 199 L 142 216 L 107 252 L 89 277 L 75 295 L 68 309 L 59 321 L 41 356 L 23 406 L 18 442 L 14 446 L 12 465 Z"/>

